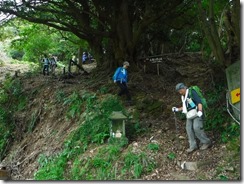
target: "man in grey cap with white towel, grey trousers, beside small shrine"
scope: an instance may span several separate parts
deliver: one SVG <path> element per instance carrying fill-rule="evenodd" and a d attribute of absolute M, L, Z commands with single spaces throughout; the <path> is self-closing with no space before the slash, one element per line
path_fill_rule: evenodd
<path fill-rule="evenodd" d="M 189 88 L 183 83 L 176 85 L 176 91 L 181 95 L 182 107 L 173 107 L 172 111 L 182 111 L 182 113 L 186 114 L 186 133 L 190 144 L 190 147 L 186 151 L 191 153 L 198 148 L 195 137 L 200 140 L 200 150 L 209 148 L 211 141 L 203 129 L 204 109 L 202 99 L 194 89 L 192 89 L 192 96 L 190 96 Z"/>

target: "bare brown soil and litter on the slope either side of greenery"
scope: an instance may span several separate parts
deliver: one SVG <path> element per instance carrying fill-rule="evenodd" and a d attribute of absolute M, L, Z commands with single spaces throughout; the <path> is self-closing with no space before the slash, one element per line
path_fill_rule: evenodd
<path fill-rule="evenodd" d="M 84 68 L 87 67 L 90 73 L 95 66 L 95 63 L 92 63 Z M 3 71 L 14 71 L 13 68 L 17 66 L 6 63 L 4 67 L 6 68 Z M 23 66 L 23 71 L 25 67 Z M 8 156 L 2 161 L 2 165 L 11 170 L 13 180 L 33 179 L 38 169 L 39 156 L 58 154 L 64 140 L 77 128 L 74 121 L 65 118 L 66 107 L 57 106 L 56 89 L 71 94 L 75 90 L 96 92 L 102 86 L 106 86 L 108 93 L 117 93 L 117 86 L 111 81 L 112 74 L 103 76 L 97 81 L 99 75 L 98 72 L 91 72 L 71 79 L 59 76 L 44 77 L 41 74 L 31 78 L 20 77 L 24 86 L 23 91 L 30 94 L 31 98 L 28 111 L 15 114 L 18 127 L 15 135 L 17 140 L 13 143 Z M 143 175 L 141 180 L 213 180 L 223 173 L 230 180 L 240 180 L 239 160 L 229 159 L 233 153 L 228 149 L 228 145 L 218 141 L 219 136 L 215 132 L 206 132 L 213 143 L 211 148 L 198 149 L 187 154 L 185 120 L 181 120 L 179 115 L 176 116 L 178 126 L 176 129 L 171 108 L 179 106 L 181 101 L 175 92 L 175 85 L 184 82 L 188 86 L 197 84 L 202 89 L 210 88 L 212 85 L 211 70 L 201 61 L 199 54 L 165 57 L 165 61 L 160 64 L 160 75 L 157 75 L 155 64 L 147 63 L 146 71 L 129 73 L 129 76 L 128 85 L 133 105 L 127 108 L 130 111 L 138 110 L 141 125 L 150 129 L 138 137 L 132 136 L 129 146 L 140 150 L 149 143 L 160 145 L 158 152 L 152 153 L 152 157 L 158 163 L 156 169 L 148 175 Z M 147 108 L 148 104 L 152 108 Z M 36 128 L 32 133 L 23 132 L 26 130 L 26 120 L 33 115 L 39 117 Z M 175 154 L 176 159 L 169 158 L 171 153 Z M 92 156 L 93 151 L 88 150 L 86 154 Z M 184 161 L 202 164 L 198 169 L 190 171 L 181 168 Z"/>

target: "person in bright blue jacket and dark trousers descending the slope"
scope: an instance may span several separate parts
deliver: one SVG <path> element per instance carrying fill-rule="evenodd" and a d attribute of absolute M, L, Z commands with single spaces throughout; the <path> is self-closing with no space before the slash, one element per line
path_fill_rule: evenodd
<path fill-rule="evenodd" d="M 129 62 L 125 61 L 123 63 L 123 67 L 118 67 L 114 73 L 113 81 L 114 83 L 117 83 L 120 88 L 120 92 L 118 93 L 118 95 L 121 96 L 125 94 L 127 96 L 128 102 L 131 103 L 131 96 L 127 86 L 128 76 L 126 70 L 129 66 Z"/>

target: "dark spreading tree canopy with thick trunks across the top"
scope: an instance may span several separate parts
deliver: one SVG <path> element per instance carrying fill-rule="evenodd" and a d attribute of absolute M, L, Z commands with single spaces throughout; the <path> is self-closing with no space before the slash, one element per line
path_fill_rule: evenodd
<path fill-rule="evenodd" d="M 222 21 L 225 11 L 230 15 L 230 25 L 219 29 L 228 32 L 232 28 L 228 35 L 234 33 L 234 40 L 238 40 L 239 20 L 234 13 L 238 6 L 237 0 L 198 1 L 198 6 L 193 0 L 3 0 L 0 12 L 8 18 L 17 16 L 71 32 L 88 42 L 99 65 L 113 67 L 125 59 L 135 64 L 145 55 L 161 54 L 167 49 L 179 51 L 189 40 L 198 39 L 199 45 L 205 36 L 211 50 L 217 48 L 218 52 L 213 52 L 217 60 L 224 63 L 223 43 L 219 36 L 226 35 L 220 31 L 218 40 L 213 39 L 218 30 L 216 24 Z M 208 23 L 212 25 L 210 29 L 206 27 Z M 236 43 L 238 41 L 232 45 L 238 45 Z"/>

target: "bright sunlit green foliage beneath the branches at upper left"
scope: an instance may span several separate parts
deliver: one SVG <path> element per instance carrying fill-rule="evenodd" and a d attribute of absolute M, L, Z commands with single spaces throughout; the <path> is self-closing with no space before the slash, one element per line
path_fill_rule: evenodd
<path fill-rule="evenodd" d="M 9 21 L 0 32 L 6 35 L 3 40 L 11 39 L 6 49 L 12 58 L 18 60 L 38 62 L 43 54 L 54 54 L 59 61 L 67 61 L 77 53 L 80 46 L 88 48 L 87 43 L 74 34 L 17 18 Z"/>

